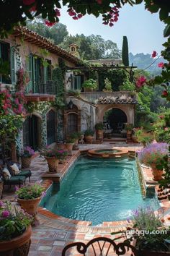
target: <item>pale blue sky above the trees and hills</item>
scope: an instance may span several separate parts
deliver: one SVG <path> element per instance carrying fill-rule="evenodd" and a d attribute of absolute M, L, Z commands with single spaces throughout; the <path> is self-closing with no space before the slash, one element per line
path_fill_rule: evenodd
<path fill-rule="evenodd" d="M 63 8 L 60 22 L 65 24 L 71 35 L 101 35 L 105 40 L 109 39 L 117 43 L 118 48 L 122 48 L 122 36 L 128 37 L 129 52 L 133 54 L 151 54 L 153 50 L 158 53 L 164 47 L 162 43 L 166 41 L 163 36 L 164 23 L 158 18 L 158 14 L 151 14 L 145 10 L 143 4 L 135 7 L 125 4 L 120 9 L 119 20 L 114 27 L 102 25 L 102 17 L 95 18 L 86 15 L 81 20 L 72 20 Z"/>

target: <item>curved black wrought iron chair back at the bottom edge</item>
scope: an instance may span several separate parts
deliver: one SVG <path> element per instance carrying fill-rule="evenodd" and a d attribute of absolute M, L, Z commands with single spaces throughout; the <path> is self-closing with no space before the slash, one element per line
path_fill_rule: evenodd
<path fill-rule="evenodd" d="M 84 256 L 138 256 L 138 251 L 135 249 L 135 247 L 133 247 L 133 245 L 125 242 L 116 244 L 112 239 L 107 237 L 97 237 L 91 239 L 91 241 L 89 241 L 87 244 L 84 244 L 83 242 L 68 244 L 66 247 L 64 247 L 62 256 L 74 254 L 77 255 L 77 253 Z"/>

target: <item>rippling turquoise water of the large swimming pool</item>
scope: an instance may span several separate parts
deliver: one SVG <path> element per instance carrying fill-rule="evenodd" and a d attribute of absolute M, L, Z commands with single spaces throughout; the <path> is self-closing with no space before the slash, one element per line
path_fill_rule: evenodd
<path fill-rule="evenodd" d="M 138 207 L 155 206 L 154 195 L 143 199 L 135 161 L 128 158 L 79 158 L 61 182 L 53 184 L 40 205 L 66 218 L 120 221 Z"/>

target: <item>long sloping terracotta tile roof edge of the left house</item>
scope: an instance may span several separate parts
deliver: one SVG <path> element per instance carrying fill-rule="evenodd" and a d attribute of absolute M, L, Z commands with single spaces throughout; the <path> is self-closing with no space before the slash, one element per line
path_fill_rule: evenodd
<path fill-rule="evenodd" d="M 44 38 L 42 35 L 38 35 L 34 31 L 29 30 L 27 27 L 22 27 L 22 26 L 15 27 L 13 35 L 16 37 L 21 37 L 25 41 L 35 44 L 40 48 L 47 49 L 51 53 L 57 54 L 61 58 L 71 61 L 73 64 L 76 64 L 76 65 L 79 64 L 80 66 L 82 65 L 82 62 L 80 59 L 76 58 L 75 56 L 73 56 L 63 48 L 51 43 L 50 40 L 48 40 L 47 38 Z"/>

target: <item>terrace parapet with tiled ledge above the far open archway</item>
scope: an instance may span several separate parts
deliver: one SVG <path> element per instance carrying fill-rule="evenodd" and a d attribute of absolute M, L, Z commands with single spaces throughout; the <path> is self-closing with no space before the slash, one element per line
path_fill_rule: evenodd
<path fill-rule="evenodd" d="M 85 101 L 95 104 L 137 104 L 135 92 L 119 91 L 112 93 L 105 92 L 84 92 L 81 93 L 81 98 Z"/>

